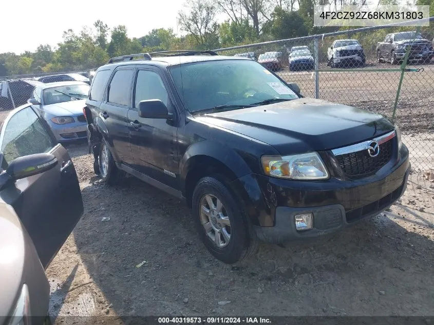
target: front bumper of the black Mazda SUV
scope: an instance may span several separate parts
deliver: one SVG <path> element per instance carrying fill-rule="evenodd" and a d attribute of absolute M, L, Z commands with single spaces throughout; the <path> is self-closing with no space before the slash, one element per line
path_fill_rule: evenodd
<path fill-rule="evenodd" d="M 258 239 L 281 243 L 330 234 L 387 209 L 404 193 L 410 172 L 408 149 L 362 179 L 289 181 L 250 174 L 240 178 L 240 197 Z M 240 189 L 236 188 L 240 193 Z M 246 199 L 248 197 L 248 199 Z M 296 214 L 311 213 L 313 228 L 295 229 Z"/>

